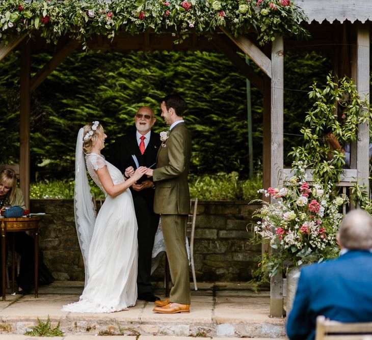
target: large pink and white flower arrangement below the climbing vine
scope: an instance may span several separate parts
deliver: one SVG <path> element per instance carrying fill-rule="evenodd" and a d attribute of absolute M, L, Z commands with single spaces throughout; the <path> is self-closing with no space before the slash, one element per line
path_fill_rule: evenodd
<path fill-rule="evenodd" d="M 331 184 L 309 184 L 304 177 L 293 177 L 278 188 L 261 189 L 272 197 L 262 201 L 254 217 L 254 233 L 277 251 L 267 254 L 261 269 L 269 277 L 287 268 L 321 262 L 337 255 L 338 225 L 343 217 L 341 206 L 348 197 L 337 194 Z"/>

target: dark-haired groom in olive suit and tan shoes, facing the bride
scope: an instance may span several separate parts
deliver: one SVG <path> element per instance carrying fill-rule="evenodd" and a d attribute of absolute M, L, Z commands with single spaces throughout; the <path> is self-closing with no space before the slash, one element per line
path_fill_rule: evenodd
<path fill-rule="evenodd" d="M 190 213 L 188 184 L 191 136 L 183 121 L 184 100 L 177 94 L 162 100 L 162 117 L 169 132 L 161 133 L 162 146 L 156 168 L 146 175 L 155 184 L 154 211 L 161 214 L 165 248 L 173 287 L 165 301 L 155 301 L 155 313 L 174 314 L 190 311 L 189 260 L 186 250 L 186 225 Z"/>

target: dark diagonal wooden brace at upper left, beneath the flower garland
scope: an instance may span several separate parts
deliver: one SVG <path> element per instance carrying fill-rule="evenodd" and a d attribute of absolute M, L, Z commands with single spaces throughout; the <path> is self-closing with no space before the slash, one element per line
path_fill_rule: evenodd
<path fill-rule="evenodd" d="M 50 59 L 43 68 L 41 68 L 32 78 L 30 82 L 30 92 L 33 92 L 45 78 L 53 72 L 64 59 L 81 44 L 78 40 L 69 40 L 58 52 Z"/>

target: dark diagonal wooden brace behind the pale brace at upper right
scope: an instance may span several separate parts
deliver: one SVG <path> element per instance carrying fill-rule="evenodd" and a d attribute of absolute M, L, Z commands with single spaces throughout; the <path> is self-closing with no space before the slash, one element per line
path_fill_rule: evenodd
<path fill-rule="evenodd" d="M 226 41 L 219 34 L 215 34 L 211 43 L 224 53 L 242 74 L 252 82 L 252 84 L 263 94 L 263 79 L 254 73 L 252 68 L 226 43 Z"/>

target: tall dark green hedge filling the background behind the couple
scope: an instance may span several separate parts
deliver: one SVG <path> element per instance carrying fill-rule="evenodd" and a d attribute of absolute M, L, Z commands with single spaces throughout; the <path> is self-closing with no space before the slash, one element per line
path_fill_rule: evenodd
<path fill-rule="evenodd" d="M 32 56 L 32 74 L 51 58 Z M 317 53 L 288 52 L 284 56 L 284 152 L 301 143 L 306 96 L 313 81 L 320 81 L 329 60 Z M 18 163 L 19 53 L 0 63 L 0 163 Z M 255 72 L 258 67 L 251 63 Z M 134 126 L 139 106 L 157 113 L 160 99 L 173 91 L 188 102 L 185 119 L 192 132 L 191 173 L 248 173 L 246 79 L 216 52 L 73 53 L 32 93 L 31 178 L 66 179 L 74 172 L 75 140 L 79 127 L 99 120 L 114 139 Z M 291 91 L 295 89 L 300 91 Z M 252 88 L 254 166 L 261 167 L 262 96 Z M 160 115 L 154 130 L 164 130 Z M 211 152 L 212 150 L 212 152 Z M 110 160 L 110 159 L 109 159 Z M 287 159 L 285 159 L 287 161 Z M 290 165 L 290 164 L 286 164 Z"/>

